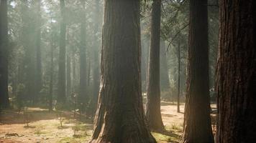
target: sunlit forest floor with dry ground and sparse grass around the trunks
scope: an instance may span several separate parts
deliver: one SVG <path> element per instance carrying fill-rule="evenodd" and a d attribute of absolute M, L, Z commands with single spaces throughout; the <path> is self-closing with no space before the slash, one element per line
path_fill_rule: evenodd
<path fill-rule="evenodd" d="M 157 142 L 178 142 L 180 139 L 184 105 L 180 106 L 180 113 L 176 109 L 175 104 L 161 103 L 163 123 L 167 131 L 152 132 Z M 86 142 L 92 134 L 92 120 L 80 118 L 83 120 L 80 122 L 79 115 L 76 117 L 73 117 L 73 112 L 48 112 L 47 109 L 35 107 L 22 112 L 4 110 L 0 114 L 0 143 Z"/>

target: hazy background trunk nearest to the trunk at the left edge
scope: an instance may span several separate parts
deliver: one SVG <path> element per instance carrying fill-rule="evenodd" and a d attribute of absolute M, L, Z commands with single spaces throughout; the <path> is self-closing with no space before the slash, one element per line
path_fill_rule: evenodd
<path fill-rule="evenodd" d="M 42 89 L 42 62 L 41 62 L 41 14 L 40 14 L 40 0 L 37 1 L 36 6 L 37 6 L 37 24 L 36 24 L 36 73 L 35 73 L 35 86 L 36 86 L 36 91 L 35 91 L 35 98 L 34 102 L 37 102 L 40 91 Z"/>

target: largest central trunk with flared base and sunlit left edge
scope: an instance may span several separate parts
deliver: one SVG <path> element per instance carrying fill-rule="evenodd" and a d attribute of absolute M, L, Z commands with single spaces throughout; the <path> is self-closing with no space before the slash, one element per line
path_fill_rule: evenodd
<path fill-rule="evenodd" d="M 105 0 L 101 87 L 91 142 L 155 142 L 140 77 L 140 1 Z"/>

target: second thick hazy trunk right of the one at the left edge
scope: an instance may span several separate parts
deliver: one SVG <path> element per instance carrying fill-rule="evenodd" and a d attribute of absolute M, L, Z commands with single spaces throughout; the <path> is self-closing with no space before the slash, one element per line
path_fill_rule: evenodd
<path fill-rule="evenodd" d="M 65 24 L 65 0 L 60 0 L 60 51 L 59 51 L 59 69 L 58 69 L 58 103 L 65 102 L 65 35 L 66 35 L 66 24 Z"/>

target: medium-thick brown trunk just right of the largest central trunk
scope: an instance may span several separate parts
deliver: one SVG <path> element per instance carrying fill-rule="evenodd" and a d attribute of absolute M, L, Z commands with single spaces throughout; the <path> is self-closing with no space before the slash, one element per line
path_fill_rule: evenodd
<path fill-rule="evenodd" d="M 160 17 L 161 0 L 154 0 L 152 4 L 146 111 L 147 122 L 153 130 L 164 129 L 160 111 Z"/>

